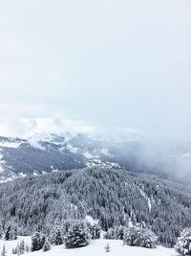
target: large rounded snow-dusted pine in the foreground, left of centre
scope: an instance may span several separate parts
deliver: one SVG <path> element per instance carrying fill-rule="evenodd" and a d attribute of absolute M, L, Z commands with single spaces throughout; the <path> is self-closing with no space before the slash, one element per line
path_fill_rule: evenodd
<path fill-rule="evenodd" d="M 74 221 L 65 238 L 66 248 L 86 246 L 90 240 L 90 233 L 85 221 Z"/>

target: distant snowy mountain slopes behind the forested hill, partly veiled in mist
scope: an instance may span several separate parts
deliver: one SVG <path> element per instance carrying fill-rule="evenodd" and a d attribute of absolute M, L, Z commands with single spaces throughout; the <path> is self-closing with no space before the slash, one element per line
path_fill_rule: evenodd
<path fill-rule="evenodd" d="M 165 148 L 165 147 L 164 147 Z M 145 147 L 137 134 L 36 133 L 29 139 L 0 137 L 0 182 L 18 176 L 102 166 L 189 181 L 191 146 Z M 188 182 L 189 183 L 189 182 Z"/>

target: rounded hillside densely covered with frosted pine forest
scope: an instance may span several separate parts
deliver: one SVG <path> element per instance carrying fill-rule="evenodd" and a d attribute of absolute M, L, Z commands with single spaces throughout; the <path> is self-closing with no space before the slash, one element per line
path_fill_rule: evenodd
<path fill-rule="evenodd" d="M 191 194 L 157 176 L 107 168 L 85 168 L 29 176 L 0 184 L 0 220 L 15 224 L 19 235 L 91 216 L 107 231 L 119 225 L 151 228 L 159 243 L 172 246 L 191 226 Z"/>

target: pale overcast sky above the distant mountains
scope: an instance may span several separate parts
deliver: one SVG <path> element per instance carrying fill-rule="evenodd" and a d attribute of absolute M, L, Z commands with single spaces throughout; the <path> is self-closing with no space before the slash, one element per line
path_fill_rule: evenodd
<path fill-rule="evenodd" d="M 0 0 L 0 133 L 191 140 L 190 0 Z"/>

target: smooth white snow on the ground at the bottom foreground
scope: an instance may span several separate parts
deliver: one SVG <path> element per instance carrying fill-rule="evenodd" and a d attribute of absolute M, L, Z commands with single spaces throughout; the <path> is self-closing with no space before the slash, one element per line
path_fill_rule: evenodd
<path fill-rule="evenodd" d="M 6 245 L 8 256 L 11 256 L 11 249 L 16 246 L 18 241 L 25 240 L 27 244 L 30 244 L 31 238 L 19 237 L 17 241 L 2 241 L 0 240 L 0 249 L 2 250 L 3 244 Z M 105 245 L 110 244 L 111 251 L 105 252 Z M 1 252 L 0 250 L 0 252 Z M 174 249 L 164 248 L 158 246 L 156 249 L 146 249 L 141 247 L 132 247 L 123 245 L 118 240 L 95 240 L 91 241 L 88 246 L 76 248 L 76 249 L 65 249 L 64 245 L 53 246 L 50 251 L 43 252 L 42 250 L 36 252 L 29 252 L 24 255 L 27 256 L 174 256 L 176 255 Z"/>

